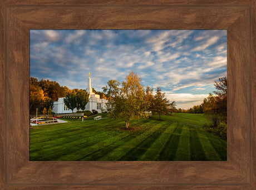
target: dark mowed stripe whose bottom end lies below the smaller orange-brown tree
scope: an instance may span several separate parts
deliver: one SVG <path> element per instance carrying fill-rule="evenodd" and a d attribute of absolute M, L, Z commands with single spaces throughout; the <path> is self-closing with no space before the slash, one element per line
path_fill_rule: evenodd
<path fill-rule="evenodd" d="M 183 131 L 183 124 L 177 123 L 174 132 L 169 137 L 168 143 L 165 144 L 163 150 L 160 152 L 159 161 L 173 161 L 176 155 L 178 144 L 180 141 L 180 135 Z"/>

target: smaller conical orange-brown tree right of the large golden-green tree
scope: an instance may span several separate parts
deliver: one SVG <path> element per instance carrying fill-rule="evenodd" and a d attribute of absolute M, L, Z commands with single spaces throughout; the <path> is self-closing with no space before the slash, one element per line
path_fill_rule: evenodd
<path fill-rule="evenodd" d="M 157 87 L 156 94 L 154 96 L 154 109 L 153 111 L 159 114 L 159 120 L 161 119 L 161 113 L 166 114 L 169 111 L 170 102 L 165 98 L 165 93 L 161 92 L 160 87 Z"/>

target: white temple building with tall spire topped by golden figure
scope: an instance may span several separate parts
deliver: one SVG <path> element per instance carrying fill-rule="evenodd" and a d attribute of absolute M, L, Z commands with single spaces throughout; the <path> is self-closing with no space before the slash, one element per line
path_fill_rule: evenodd
<path fill-rule="evenodd" d="M 85 110 L 90 110 L 92 112 L 92 110 L 96 110 L 97 112 L 101 113 L 101 108 L 103 110 L 106 109 L 106 103 L 107 100 L 106 99 L 102 99 L 100 98 L 99 94 L 95 94 L 92 92 L 92 87 L 91 87 L 91 78 L 90 78 L 90 72 L 89 72 L 89 78 L 88 78 L 88 84 L 87 84 L 87 88 L 86 88 L 87 93 L 89 94 L 89 101 L 86 104 Z M 64 99 L 63 98 L 58 98 L 58 101 L 54 102 L 54 107 L 52 109 L 53 112 L 55 113 L 72 113 L 71 109 L 68 109 L 67 106 L 64 103 Z M 82 110 L 80 110 L 82 111 Z M 76 113 L 77 109 L 75 108 L 73 110 L 73 113 Z"/>

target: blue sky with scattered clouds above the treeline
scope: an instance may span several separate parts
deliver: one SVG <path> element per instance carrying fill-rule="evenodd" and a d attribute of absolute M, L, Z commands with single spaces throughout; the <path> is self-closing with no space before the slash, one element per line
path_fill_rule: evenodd
<path fill-rule="evenodd" d="M 178 108 L 203 102 L 227 76 L 227 30 L 31 30 L 30 75 L 102 91 L 130 71 Z"/>

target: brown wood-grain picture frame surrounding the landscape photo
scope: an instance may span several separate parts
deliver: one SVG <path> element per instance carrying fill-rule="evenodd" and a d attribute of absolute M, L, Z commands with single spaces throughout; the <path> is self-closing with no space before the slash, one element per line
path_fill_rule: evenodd
<path fill-rule="evenodd" d="M 0 188 L 256 189 L 256 2 L 1 1 Z M 29 161 L 29 29 L 227 29 L 228 161 Z"/>

